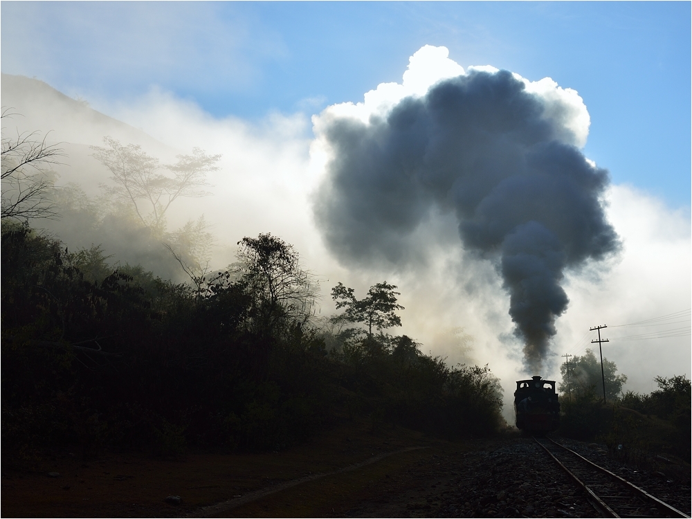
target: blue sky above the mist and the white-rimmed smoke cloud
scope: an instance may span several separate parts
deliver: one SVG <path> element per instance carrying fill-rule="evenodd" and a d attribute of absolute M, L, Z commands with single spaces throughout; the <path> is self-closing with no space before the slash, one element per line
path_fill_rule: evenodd
<path fill-rule="evenodd" d="M 69 95 L 152 86 L 213 116 L 316 113 L 401 81 L 421 46 L 579 91 L 585 154 L 673 208 L 690 206 L 691 3 L 1 4 L 1 67 Z"/>

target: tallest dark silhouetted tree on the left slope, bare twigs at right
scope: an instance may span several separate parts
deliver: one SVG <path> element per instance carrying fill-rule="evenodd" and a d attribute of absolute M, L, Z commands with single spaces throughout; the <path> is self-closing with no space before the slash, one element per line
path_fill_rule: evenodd
<path fill-rule="evenodd" d="M 282 325 L 302 326 L 311 317 L 316 282 L 300 266 L 293 246 L 270 233 L 238 242 L 237 275 L 252 300 L 255 333 L 275 334 Z"/>

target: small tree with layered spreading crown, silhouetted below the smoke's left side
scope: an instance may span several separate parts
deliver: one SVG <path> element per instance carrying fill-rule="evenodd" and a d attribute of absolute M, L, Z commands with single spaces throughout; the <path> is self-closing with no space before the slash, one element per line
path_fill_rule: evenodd
<path fill-rule="evenodd" d="M 369 338 L 372 338 L 372 327 L 382 330 L 401 326 L 401 318 L 394 311 L 404 308 L 397 304 L 397 295 L 401 293 L 395 292 L 396 288 L 386 281 L 377 283 L 370 287 L 365 298 L 357 300 L 354 289 L 348 289 L 339 282 L 331 289 L 331 298 L 336 301 L 336 309 L 345 308 L 345 311 L 335 320 L 365 323 Z"/>

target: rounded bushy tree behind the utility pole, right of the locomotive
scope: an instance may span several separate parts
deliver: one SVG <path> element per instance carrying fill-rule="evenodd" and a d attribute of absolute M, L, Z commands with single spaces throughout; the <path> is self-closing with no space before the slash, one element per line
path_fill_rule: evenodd
<path fill-rule="evenodd" d="M 569 370 L 569 372 L 568 372 Z M 601 363 L 592 351 L 587 349 L 583 356 L 574 356 L 573 360 L 560 366 L 563 381 L 558 389 L 563 393 L 572 392 L 575 396 L 585 394 L 589 388 L 601 388 Z M 616 399 L 627 381 L 627 375 L 616 374 L 614 362 L 603 358 L 603 374 L 605 375 L 605 396 L 608 400 Z"/>

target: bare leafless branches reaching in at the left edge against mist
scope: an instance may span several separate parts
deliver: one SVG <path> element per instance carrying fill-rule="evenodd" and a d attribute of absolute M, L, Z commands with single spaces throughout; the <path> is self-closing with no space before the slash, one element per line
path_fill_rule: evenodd
<path fill-rule="evenodd" d="M 1 118 L 11 115 L 3 110 Z M 60 163 L 58 158 L 65 155 L 63 149 L 48 145 L 46 137 L 39 139 L 37 132 L 10 138 L 5 136 L 4 127 L 2 131 L 0 217 L 56 218 L 56 205 L 50 197 L 55 174 L 48 166 Z"/>

